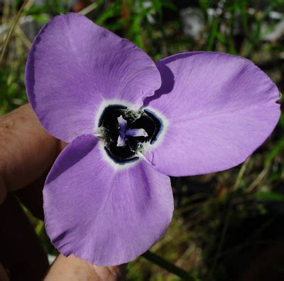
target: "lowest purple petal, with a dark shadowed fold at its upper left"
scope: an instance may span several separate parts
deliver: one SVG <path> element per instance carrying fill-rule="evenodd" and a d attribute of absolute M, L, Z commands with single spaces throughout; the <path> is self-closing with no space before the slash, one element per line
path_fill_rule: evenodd
<path fill-rule="evenodd" d="M 101 141 L 99 141 L 101 142 Z M 56 248 L 96 265 L 133 260 L 173 214 L 168 176 L 139 161 L 114 171 L 96 137 L 84 135 L 55 161 L 43 190 L 45 228 Z"/>

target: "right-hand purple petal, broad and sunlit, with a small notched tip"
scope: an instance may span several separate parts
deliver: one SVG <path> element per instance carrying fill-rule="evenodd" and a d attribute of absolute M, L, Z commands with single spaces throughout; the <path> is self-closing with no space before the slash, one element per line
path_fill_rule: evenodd
<path fill-rule="evenodd" d="M 222 171 L 244 161 L 280 116 L 279 91 L 251 61 L 224 53 L 182 53 L 157 63 L 162 86 L 146 105 L 168 120 L 146 157 L 170 176 Z"/>

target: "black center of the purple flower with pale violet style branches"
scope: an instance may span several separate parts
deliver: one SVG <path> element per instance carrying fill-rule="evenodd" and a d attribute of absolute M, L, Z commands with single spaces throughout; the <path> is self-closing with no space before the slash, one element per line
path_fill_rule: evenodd
<path fill-rule="evenodd" d="M 119 164 L 136 161 L 146 144 L 155 142 L 162 126 L 153 112 L 135 112 L 124 105 L 109 105 L 99 118 L 104 149 Z"/>

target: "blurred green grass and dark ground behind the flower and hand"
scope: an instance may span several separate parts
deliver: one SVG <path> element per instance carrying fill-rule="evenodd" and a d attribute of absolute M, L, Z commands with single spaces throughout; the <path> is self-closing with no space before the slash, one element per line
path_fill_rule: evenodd
<path fill-rule="evenodd" d="M 33 38 L 68 11 L 128 38 L 153 60 L 187 51 L 244 56 L 284 90 L 284 0 L 0 0 L 1 115 L 27 102 L 24 68 Z M 173 178 L 174 218 L 151 252 L 192 280 L 284 280 L 283 129 L 282 115 L 268 141 L 234 169 Z M 57 253 L 43 221 L 22 207 L 51 262 Z M 180 280 L 157 263 L 165 261 L 137 258 L 127 279 Z"/>

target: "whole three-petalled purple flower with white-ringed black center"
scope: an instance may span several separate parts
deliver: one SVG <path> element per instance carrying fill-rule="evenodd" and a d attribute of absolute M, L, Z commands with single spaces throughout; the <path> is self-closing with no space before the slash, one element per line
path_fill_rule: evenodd
<path fill-rule="evenodd" d="M 240 164 L 280 115 L 278 89 L 249 60 L 194 52 L 153 63 L 78 14 L 35 38 L 26 90 L 43 127 L 70 143 L 45 182 L 47 233 L 97 265 L 129 262 L 165 233 L 169 176 Z"/>

